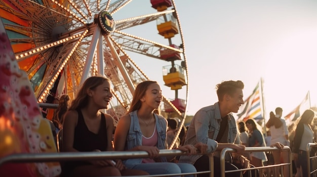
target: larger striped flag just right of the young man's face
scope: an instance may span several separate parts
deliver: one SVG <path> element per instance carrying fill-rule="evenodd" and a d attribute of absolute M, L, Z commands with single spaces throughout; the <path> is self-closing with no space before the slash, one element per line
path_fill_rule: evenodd
<path fill-rule="evenodd" d="M 262 91 L 259 82 L 253 93 L 245 100 L 245 103 L 240 107 L 242 110 L 239 114 L 237 114 L 238 119 L 237 122 L 247 121 L 250 118 L 253 118 L 257 122 L 263 119 L 262 112 Z"/>

